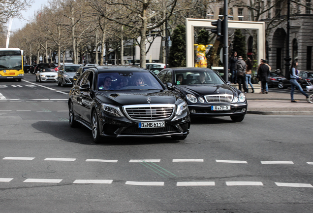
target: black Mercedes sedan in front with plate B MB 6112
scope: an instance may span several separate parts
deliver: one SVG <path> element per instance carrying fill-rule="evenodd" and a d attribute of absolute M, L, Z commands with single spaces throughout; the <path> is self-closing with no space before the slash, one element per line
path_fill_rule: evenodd
<path fill-rule="evenodd" d="M 167 85 L 171 87 L 171 84 Z M 94 67 L 77 79 L 68 100 L 69 125 L 103 137 L 164 137 L 189 134 L 187 103 L 143 68 Z"/>

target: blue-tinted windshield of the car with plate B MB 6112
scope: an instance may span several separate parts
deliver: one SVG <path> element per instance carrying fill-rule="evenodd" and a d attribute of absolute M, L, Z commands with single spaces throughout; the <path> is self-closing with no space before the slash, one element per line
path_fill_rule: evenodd
<path fill-rule="evenodd" d="M 116 71 L 99 73 L 98 90 L 162 90 L 149 71 Z"/>

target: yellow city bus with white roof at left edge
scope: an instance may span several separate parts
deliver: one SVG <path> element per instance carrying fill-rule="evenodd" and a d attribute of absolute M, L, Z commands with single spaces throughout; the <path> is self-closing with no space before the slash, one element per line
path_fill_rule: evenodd
<path fill-rule="evenodd" d="M 24 78 L 23 50 L 19 48 L 0 48 L 0 79 Z"/>

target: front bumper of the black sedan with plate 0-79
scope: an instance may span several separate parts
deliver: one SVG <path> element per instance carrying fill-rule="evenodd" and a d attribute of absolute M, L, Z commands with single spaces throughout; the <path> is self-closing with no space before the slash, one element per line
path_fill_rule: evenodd
<path fill-rule="evenodd" d="M 230 110 L 211 110 L 211 106 L 230 106 Z M 248 103 L 240 104 L 215 104 L 215 105 L 188 105 L 190 116 L 230 116 L 230 115 L 244 115 L 247 114 Z"/>

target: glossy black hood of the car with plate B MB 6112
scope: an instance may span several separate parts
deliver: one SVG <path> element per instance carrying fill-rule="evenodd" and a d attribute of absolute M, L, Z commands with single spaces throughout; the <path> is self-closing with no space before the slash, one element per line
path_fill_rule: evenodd
<path fill-rule="evenodd" d="M 140 105 L 140 104 L 175 104 L 179 99 L 170 91 L 156 92 L 154 91 L 99 91 L 97 98 L 104 103 L 116 106 Z M 147 98 L 150 98 L 148 103 Z"/>

